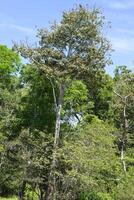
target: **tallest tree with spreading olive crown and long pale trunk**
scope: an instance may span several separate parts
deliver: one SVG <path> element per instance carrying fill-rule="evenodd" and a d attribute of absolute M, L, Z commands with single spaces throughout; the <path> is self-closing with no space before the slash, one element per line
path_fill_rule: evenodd
<path fill-rule="evenodd" d="M 57 166 L 56 151 L 60 144 L 61 111 L 65 90 L 72 80 L 85 79 L 103 71 L 109 59 L 108 41 L 103 37 L 104 18 L 98 9 L 88 10 L 78 6 L 63 13 L 59 24 L 49 30 L 38 31 L 39 45 L 14 45 L 32 66 L 38 68 L 50 80 L 55 104 L 56 122 L 54 153 L 50 185 L 46 199 L 55 199 Z M 54 178 L 53 178 L 54 177 Z M 52 197 L 53 196 L 53 197 Z"/>

